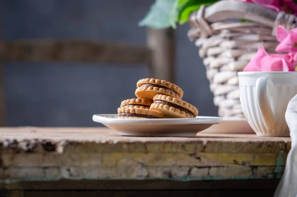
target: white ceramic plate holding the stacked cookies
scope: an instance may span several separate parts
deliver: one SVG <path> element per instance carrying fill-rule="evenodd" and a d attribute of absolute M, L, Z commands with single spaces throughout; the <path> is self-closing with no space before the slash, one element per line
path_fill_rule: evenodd
<path fill-rule="evenodd" d="M 214 124 L 222 123 L 220 117 L 198 116 L 184 119 L 117 119 L 117 114 L 99 114 L 93 121 L 130 136 L 187 136 L 195 137 Z"/>

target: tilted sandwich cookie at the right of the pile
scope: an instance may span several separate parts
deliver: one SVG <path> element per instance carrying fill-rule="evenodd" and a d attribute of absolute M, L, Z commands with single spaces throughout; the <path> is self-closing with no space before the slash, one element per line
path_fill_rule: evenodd
<path fill-rule="evenodd" d="M 198 109 L 178 98 L 157 94 L 153 97 L 151 110 L 164 113 L 165 118 L 196 118 Z"/>

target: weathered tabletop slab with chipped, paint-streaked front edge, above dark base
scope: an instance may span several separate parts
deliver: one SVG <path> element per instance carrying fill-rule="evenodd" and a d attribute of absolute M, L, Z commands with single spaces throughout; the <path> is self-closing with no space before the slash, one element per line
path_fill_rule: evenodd
<path fill-rule="evenodd" d="M 0 182 L 282 176 L 291 139 L 254 134 L 123 137 L 106 128 L 0 128 Z"/>

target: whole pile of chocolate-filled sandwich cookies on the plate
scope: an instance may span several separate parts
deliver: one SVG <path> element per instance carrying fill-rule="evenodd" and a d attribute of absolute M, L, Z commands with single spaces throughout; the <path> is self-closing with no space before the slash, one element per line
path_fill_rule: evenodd
<path fill-rule="evenodd" d="M 196 118 L 195 106 L 182 100 L 184 91 L 165 80 L 146 78 L 137 82 L 137 99 L 124 100 L 118 118 Z"/>

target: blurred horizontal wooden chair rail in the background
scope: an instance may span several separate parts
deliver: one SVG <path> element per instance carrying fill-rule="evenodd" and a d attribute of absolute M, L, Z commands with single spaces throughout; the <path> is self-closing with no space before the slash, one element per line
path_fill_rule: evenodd
<path fill-rule="evenodd" d="M 0 43 L 4 62 L 74 62 L 149 64 L 147 46 L 84 40 L 19 40 Z"/>

